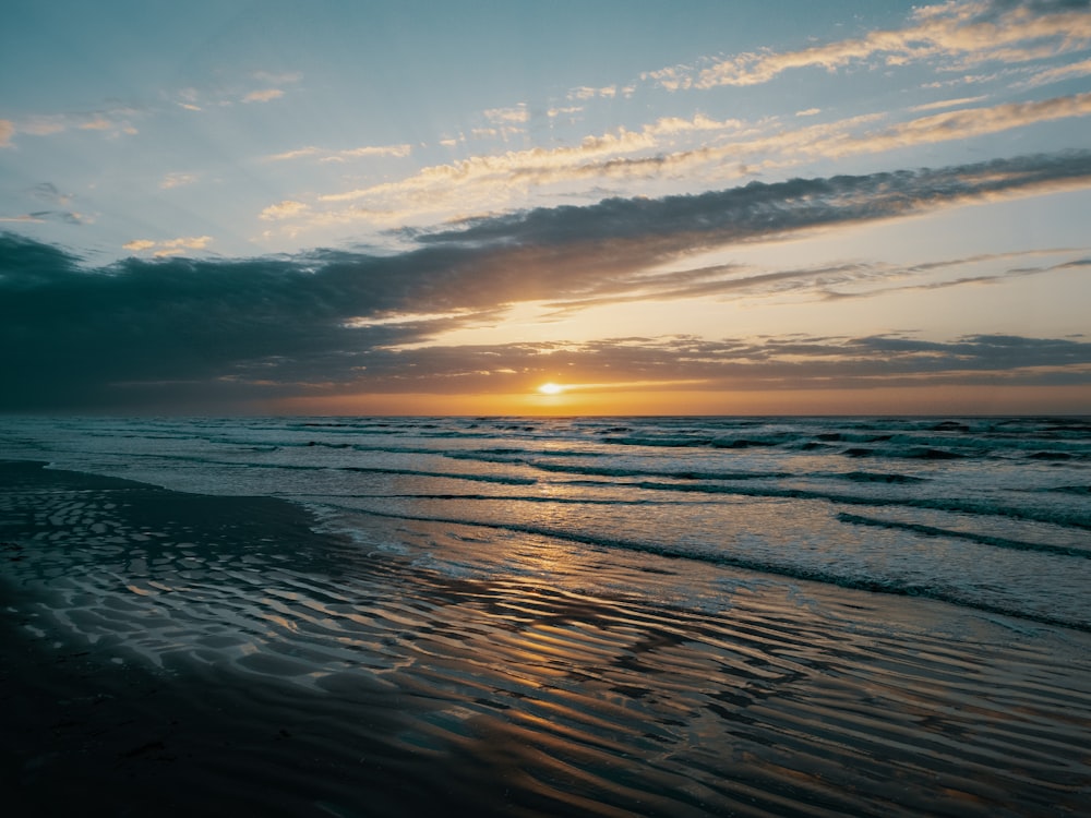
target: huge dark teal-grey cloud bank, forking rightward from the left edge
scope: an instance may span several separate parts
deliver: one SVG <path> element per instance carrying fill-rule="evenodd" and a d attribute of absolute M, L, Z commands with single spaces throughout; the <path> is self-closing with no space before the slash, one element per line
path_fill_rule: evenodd
<path fill-rule="evenodd" d="M 124 408 L 192 395 L 521 389 L 543 372 L 543 353 L 550 366 L 571 362 L 587 383 L 1087 384 L 1091 344 L 1071 339 L 650 337 L 493 347 L 434 340 L 475 322 L 494 323 L 525 301 L 575 309 L 582 300 L 882 282 L 907 270 L 663 269 L 700 250 L 1075 183 L 1091 183 L 1091 152 L 538 208 L 418 234 L 411 249 L 385 255 L 168 257 L 207 248 L 212 239 L 202 236 L 137 240 L 127 249 L 160 257 L 87 268 L 52 245 L 0 234 L 0 346 L 13 351 L 0 357 L 0 409 Z M 1087 269 L 1084 261 L 1065 264 Z"/>

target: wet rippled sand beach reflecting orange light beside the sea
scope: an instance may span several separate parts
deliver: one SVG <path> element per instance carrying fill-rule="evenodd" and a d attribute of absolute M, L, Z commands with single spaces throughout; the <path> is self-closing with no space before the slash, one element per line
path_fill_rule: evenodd
<path fill-rule="evenodd" d="M 352 540 L 32 464 L 0 486 L 17 814 L 1091 803 L 1087 634 L 469 526 Z"/>

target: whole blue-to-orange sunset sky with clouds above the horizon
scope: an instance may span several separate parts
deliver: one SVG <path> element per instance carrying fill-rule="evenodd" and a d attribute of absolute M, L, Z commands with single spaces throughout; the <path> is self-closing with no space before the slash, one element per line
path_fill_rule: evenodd
<path fill-rule="evenodd" d="M 2 412 L 1091 413 L 1088 0 L 3 20 Z"/>

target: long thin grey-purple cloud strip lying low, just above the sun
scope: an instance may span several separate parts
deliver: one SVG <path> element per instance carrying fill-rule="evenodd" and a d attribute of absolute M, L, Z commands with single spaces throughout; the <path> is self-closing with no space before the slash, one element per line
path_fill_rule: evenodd
<path fill-rule="evenodd" d="M 666 336 L 585 344 L 432 347 L 416 354 L 367 356 L 357 389 L 516 392 L 551 373 L 611 388 L 850 389 L 895 386 L 1048 386 L 1091 383 L 1091 344 L 1071 339 L 970 335 L 944 341 L 906 335 L 822 338 Z M 407 364 L 412 362 L 412 366 Z M 511 373 L 511 374 L 505 374 Z"/>

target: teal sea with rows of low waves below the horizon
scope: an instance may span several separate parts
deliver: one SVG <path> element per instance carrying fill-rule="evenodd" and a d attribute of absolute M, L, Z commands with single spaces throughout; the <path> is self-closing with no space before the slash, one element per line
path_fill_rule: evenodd
<path fill-rule="evenodd" d="M 27 419 L 0 430 L 2 456 L 283 497 L 361 542 L 380 519 L 470 526 L 472 548 L 455 553 L 384 543 L 461 576 L 503 573 L 490 543 L 521 532 L 1091 630 L 1086 418 Z"/>

